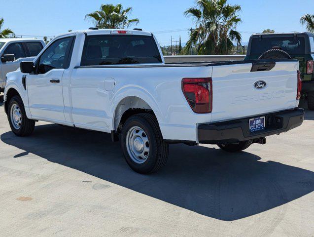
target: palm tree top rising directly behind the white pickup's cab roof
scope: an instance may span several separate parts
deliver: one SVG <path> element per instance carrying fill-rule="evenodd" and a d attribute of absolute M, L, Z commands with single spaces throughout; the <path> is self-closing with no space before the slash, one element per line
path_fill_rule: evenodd
<path fill-rule="evenodd" d="M 121 4 L 102 4 L 99 11 L 94 11 L 85 16 L 90 18 L 98 28 L 120 29 L 128 28 L 132 24 L 138 24 L 138 18 L 128 19 L 128 15 L 132 12 L 132 7 L 123 9 Z"/>

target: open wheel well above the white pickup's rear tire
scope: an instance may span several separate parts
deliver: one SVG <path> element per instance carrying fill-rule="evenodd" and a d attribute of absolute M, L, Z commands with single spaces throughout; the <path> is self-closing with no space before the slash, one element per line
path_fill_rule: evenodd
<path fill-rule="evenodd" d="M 135 114 L 149 113 L 155 116 L 150 106 L 142 99 L 136 96 L 124 98 L 117 106 L 114 114 L 114 129 L 120 133 L 123 124 L 128 118 Z"/>

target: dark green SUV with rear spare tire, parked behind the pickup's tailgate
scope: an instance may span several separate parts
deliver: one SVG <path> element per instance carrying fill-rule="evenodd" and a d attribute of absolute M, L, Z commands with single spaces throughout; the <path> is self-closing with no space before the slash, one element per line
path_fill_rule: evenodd
<path fill-rule="evenodd" d="M 300 63 L 302 97 L 314 110 L 314 34 L 255 34 L 248 42 L 245 60 L 294 58 Z"/>

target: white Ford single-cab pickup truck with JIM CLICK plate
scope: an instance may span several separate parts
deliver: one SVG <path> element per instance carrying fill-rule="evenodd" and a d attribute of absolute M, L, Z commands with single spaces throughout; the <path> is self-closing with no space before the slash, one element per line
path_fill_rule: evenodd
<path fill-rule="evenodd" d="M 301 125 L 298 69 L 291 59 L 167 64 L 151 33 L 76 31 L 7 74 L 4 109 L 17 136 L 37 120 L 111 133 L 146 174 L 170 143 L 237 152 Z"/>

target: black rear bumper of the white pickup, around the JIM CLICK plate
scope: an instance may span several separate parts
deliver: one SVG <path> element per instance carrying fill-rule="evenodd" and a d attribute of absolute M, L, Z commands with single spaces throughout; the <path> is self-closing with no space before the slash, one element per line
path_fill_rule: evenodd
<path fill-rule="evenodd" d="M 261 116 L 265 116 L 265 129 L 250 132 L 248 120 Z M 294 110 L 285 110 L 226 122 L 200 124 L 198 127 L 198 140 L 199 143 L 203 144 L 222 144 L 258 139 L 289 131 L 300 126 L 303 120 L 304 110 L 296 108 Z"/>

